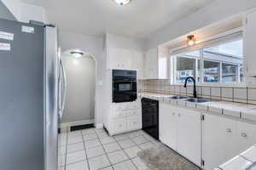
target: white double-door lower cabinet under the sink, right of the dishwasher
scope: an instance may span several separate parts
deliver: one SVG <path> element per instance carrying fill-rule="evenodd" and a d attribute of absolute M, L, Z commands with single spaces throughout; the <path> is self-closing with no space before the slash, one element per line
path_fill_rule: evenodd
<path fill-rule="evenodd" d="M 160 140 L 201 166 L 201 113 L 160 102 Z"/>

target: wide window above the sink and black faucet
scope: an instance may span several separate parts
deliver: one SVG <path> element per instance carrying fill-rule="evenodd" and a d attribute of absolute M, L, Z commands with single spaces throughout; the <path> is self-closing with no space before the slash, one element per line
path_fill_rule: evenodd
<path fill-rule="evenodd" d="M 242 39 L 176 54 L 172 56 L 172 82 L 182 83 L 186 77 L 206 83 L 244 82 L 242 54 Z"/>

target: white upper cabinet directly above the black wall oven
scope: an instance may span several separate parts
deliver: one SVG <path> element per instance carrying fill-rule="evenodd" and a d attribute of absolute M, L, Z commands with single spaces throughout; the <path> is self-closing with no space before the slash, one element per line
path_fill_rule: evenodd
<path fill-rule="evenodd" d="M 137 79 L 143 79 L 143 51 L 108 48 L 108 69 L 137 70 Z"/>

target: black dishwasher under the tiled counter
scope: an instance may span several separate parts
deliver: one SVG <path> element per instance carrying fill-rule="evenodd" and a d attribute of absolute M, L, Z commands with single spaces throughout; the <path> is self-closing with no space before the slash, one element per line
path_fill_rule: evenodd
<path fill-rule="evenodd" d="M 143 131 L 159 140 L 159 101 L 142 99 Z"/>

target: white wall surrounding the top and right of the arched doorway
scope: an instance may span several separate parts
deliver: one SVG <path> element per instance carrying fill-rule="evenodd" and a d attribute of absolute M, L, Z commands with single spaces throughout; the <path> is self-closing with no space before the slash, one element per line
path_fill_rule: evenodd
<path fill-rule="evenodd" d="M 103 122 L 104 109 L 102 104 L 105 77 L 106 77 L 106 58 L 103 56 L 103 39 L 102 37 L 90 37 L 70 32 L 59 32 L 59 46 L 64 52 L 71 48 L 79 48 L 84 52 L 89 52 L 96 59 L 96 125 L 101 126 Z M 98 83 L 98 82 L 102 82 Z"/>

